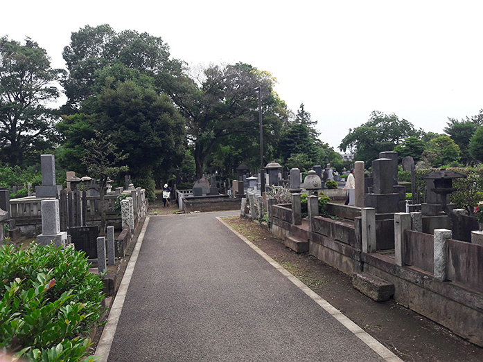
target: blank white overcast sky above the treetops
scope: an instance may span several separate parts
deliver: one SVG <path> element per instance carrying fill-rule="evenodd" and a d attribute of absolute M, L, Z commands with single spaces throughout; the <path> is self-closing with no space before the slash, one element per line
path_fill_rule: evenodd
<path fill-rule="evenodd" d="M 483 1 L 8 1 L 0 36 L 31 37 L 64 67 L 71 33 L 109 24 L 161 37 L 191 66 L 245 62 L 318 121 L 338 150 L 371 111 L 442 133 L 483 109 Z"/>

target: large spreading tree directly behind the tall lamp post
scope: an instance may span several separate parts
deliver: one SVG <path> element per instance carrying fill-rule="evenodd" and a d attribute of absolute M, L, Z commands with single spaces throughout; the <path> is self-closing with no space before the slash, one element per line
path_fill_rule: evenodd
<path fill-rule="evenodd" d="M 270 73 L 237 63 L 210 66 L 200 78 L 184 77 L 177 83 L 177 90 L 170 96 L 186 119 L 197 177 L 202 176 L 207 156 L 216 145 L 226 146 L 227 140 L 244 140 L 245 147 L 250 148 L 255 141 L 259 145 L 256 87 L 262 92 L 264 150 L 279 138 L 287 110 L 272 91 L 274 82 Z"/>

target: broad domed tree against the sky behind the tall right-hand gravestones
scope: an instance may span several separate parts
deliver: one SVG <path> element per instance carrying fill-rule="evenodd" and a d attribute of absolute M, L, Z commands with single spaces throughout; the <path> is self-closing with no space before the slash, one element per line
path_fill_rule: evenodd
<path fill-rule="evenodd" d="M 414 129 L 412 123 L 399 119 L 395 114 L 373 111 L 367 123 L 354 129 L 340 143 L 340 150 L 355 150 L 355 161 L 371 163 L 378 159 L 379 152 L 392 151 L 406 138 L 421 136 L 422 131 Z"/>

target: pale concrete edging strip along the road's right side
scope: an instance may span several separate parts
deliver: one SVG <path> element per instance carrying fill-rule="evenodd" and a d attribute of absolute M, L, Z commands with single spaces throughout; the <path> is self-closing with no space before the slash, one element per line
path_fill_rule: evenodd
<path fill-rule="evenodd" d="M 309 287 L 306 286 L 303 282 L 301 282 L 299 279 L 297 279 L 290 271 L 287 269 L 283 268 L 278 262 L 272 259 L 267 253 L 261 250 L 261 248 L 258 248 L 255 244 L 249 241 L 246 237 L 238 233 L 234 228 L 229 226 L 223 219 L 222 217 L 216 217 L 218 221 L 220 221 L 223 225 L 225 225 L 231 232 L 233 232 L 236 236 L 238 236 L 240 239 L 242 239 L 248 246 L 250 246 L 258 255 L 263 257 L 267 262 L 272 264 L 276 270 L 278 270 L 280 273 L 282 273 L 290 282 L 295 284 L 301 291 L 304 291 L 304 293 L 307 294 L 314 302 L 316 302 L 320 307 L 322 307 L 325 311 L 328 312 L 328 314 L 331 314 L 335 319 L 337 319 L 344 327 L 349 329 L 355 336 L 357 336 L 362 342 L 364 342 L 367 346 L 371 348 L 371 350 L 374 350 L 379 356 L 381 356 L 383 359 L 385 359 L 388 362 L 403 362 L 402 359 L 400 359 L 396 354 L 391 352 L 385 345 L 380 343 L 379 341 L 376 340 L 373 336 L 371 336 L 369 333 L 365 332 L 364 329 L 356 325 L 351 319 L 346 317 L 344 314 L 342 314 L 337 308 L 333 307 L 331 303 L 327 302 L 324 298 L 319 296 L 315 291 L 310 289 Z"/>

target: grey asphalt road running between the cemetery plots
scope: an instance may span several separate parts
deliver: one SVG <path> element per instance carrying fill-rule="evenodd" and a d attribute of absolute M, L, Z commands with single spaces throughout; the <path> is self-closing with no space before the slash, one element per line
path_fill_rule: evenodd
<path fill-rule="evenodd" d="M 396 361 L 216 219 L 226 214 L 148 219 L 108 361 Z"/>

